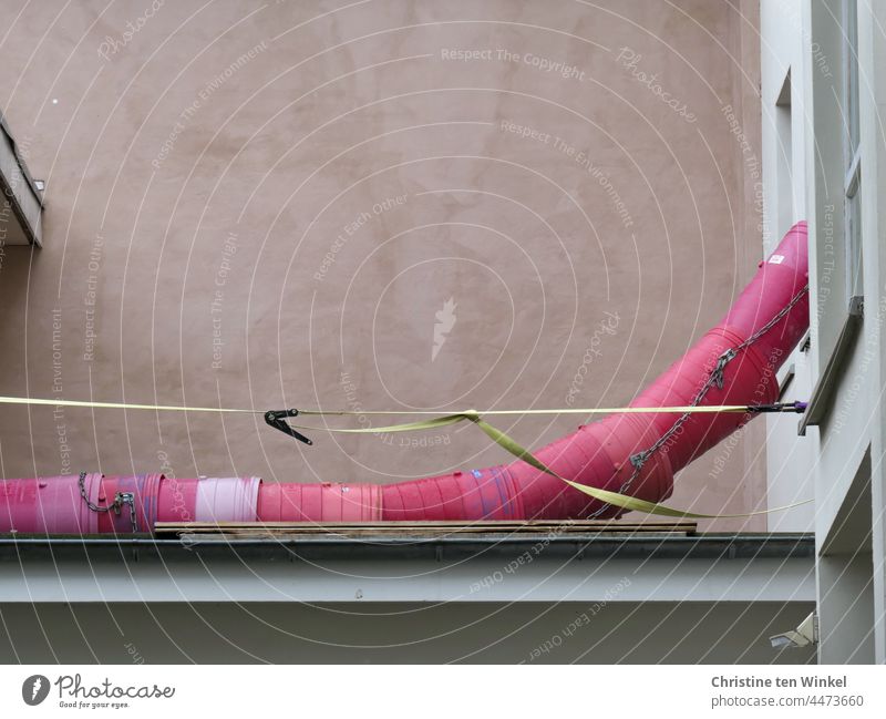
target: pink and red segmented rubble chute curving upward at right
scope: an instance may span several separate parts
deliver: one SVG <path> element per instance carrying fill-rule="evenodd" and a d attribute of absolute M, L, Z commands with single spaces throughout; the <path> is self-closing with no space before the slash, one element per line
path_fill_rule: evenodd
<path fill-rule="evenodd" d="M 774 402 L 775 372 L 808 327 L 807 281 L 806 224 L 797 223 L 722 321 L 630 407 L 684 407 L 705 384 L 701 405 Z M 616 413 L 534 454 L 575 482 L 661 502 L 673 490 L 674 472 L 751 417 L 692 413 L 674 430 L 680 414 Z M 621 513 L 518 460 L 384 485 L 97 473 L 0 481 L 0 532 L 38 534 L 152 532 L 158 521 L 560 520 Z"/>

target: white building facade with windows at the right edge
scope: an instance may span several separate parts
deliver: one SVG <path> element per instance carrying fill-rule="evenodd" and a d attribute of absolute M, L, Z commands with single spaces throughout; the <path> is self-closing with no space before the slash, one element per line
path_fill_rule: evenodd
<path fill-rule="evenodd" d="M 868 0 L 761 4 L 764 249 L 810 230 L 808 338 L 785 363 L 800 424 L 770 420 L 770 520 L 814 531 L 821 662 L 886 661 L 884 359 L 886 8 Z M 814 506 L 814 510 L 813 510 Z"/>

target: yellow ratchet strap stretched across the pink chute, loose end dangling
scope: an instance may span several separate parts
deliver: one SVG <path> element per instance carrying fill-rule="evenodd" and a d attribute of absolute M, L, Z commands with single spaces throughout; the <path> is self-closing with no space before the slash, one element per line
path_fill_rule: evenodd
<path fill-rule="evenodd" d="M 247 414 L 264 414 L 264 410 L 244 410 L 244 409 L 225 409 L 218 407 L 177 407 L 169 404 L 132 404 L 128 402 L 87 402 L 78 400 L 47 400 L 34 399 L 27 397 L 0 397 L 0 404 L 38 404 L 38 405 L 52 405 L 52 407 L 87 407 L 96 409 L 122 409 L 122 410 L 154 410 L 163 412 L 237 412 Z M 470 420 L 474 422 L 481 430 L 483 430 L 490 439 L 492 439 L 501 448 L 513 454 L 519 460 L 535 469 L 550 474 L 552 476 L 566 482 L 569 486 L 584 492 L 601 502 L 607 502 L 615 506 L 622 507 L 628 511 L 645 512 L 646 514 L 659 514 L 662 516 L 680 517 L 689 520 L 717 520 L 717 518 L 735 518 L 755 516 L 759 514 L 770 514 L 771 512 L 782 512 L 791 510 L 795 506 L 808 504 L 812 500 L 797 502 L 796 504 L 789 504 L 772 510 L 761 510 L 759 512 L 746 512 L 741 514 L 698 514 L 696 512 L 687 512 L 684 510 L 674 510 L 663 504 L 656 504 L 655 502 L 647 502 L 646 500 L 638 500 L 637 497 L 628 496 L 627 494 L 619 494 L 618 492 L 609 492 L 607 490 L 599 490 L 597 487 L 579 484 L 560 476 L 554 470 L 545 465 L 540 460 L 535 458 L 532 452 L 522 446 L 515 440 L 509 438 L 501 430 L 494 428 L 488 422 L 481 419 L 481 414 L 615 414 L 615 413 L 686 413 L 686 412 L 746 412 L 748 407 L 743 404 L 721 404 L 721 405 L 704 405 L 704 407 L 620 407 L 620 408 L 586 408 L 586 409 L 557 409 L 557 410 L 487 410 L 478 412 L 476 410 L 467 410 L 465 412 L 456 412 L 454 414 L 446 414 L 444 417 L 436 417 L 431 420 L 421 420 L 418 422 L 404 422 L 401 424 L 391 424 L 388 427 L 372 427 L 372 428 L 332 428 L 332 427 L 306 427 L 300 424 L 291 424 L 292 428 L 299 430 L 326 430 L 327 432 L 339 432 L 349 434 L 368 434 L 380 432 L 414 432 L 421 430 L 431 430 L 440 427 L 447 427 Z M 299 410 L 299 414 L 308 415 L 333 415 L 333 417 L 359 417 L 363 414 L 436 414 L 431 411 L 413 411 L 413 410 L 374 410 L 365 412 L 346 411 L 346 410 Z"/>

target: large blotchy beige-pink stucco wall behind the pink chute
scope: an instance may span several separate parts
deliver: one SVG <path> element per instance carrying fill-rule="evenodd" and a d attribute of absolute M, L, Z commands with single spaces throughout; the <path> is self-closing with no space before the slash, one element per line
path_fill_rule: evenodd
<path fill-rule="evenodd" d="M 0 106 L 47 182 L 43 249 L 0 266 L 3 394 L 563 407 L 584 364 L 576 405 L 620 405 L 760 257 L 751 2 L 0 4 Z M 575 424 L 503 427 L 537 446 Z M 672 503 L 763 501 L 762 429 L 686 471 Z M 0 412 L 4 476 L 392 481 L 504 459 L 473 428 L 433 446 L 312 436 Z"/>

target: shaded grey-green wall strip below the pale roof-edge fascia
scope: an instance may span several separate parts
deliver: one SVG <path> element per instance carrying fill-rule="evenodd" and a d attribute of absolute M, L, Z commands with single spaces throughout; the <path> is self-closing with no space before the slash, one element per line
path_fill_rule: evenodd
<path fill-rule="evenodd" d="M 587 604 L 0 604 L 0 661 L 807 664 L 767 637 L 811 609 L 612 603 L 567 633 Z"/>

